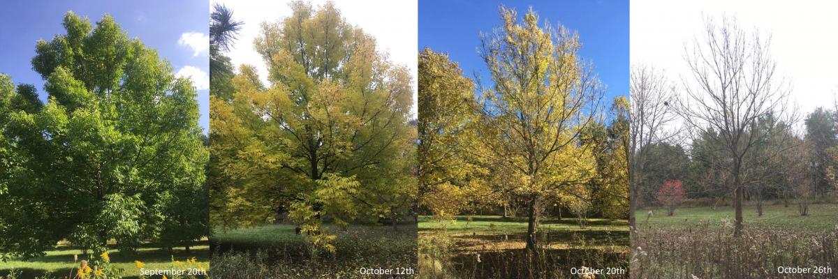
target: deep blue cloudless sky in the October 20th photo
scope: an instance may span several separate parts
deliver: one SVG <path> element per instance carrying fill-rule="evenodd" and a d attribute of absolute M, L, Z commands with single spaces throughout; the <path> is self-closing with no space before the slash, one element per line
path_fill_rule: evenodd
<path fill-rule="evenodd" d="M 523 16 L 532 7 L 542 24 L 561 23 L 576 30 L 582 42 L 579 54 L 592 61 L 594 73 L 608 85 L 603 103 L 614 96 L 629 95 L 629 1 L 477 1 L 445 0 L 419 2 L 419 49 L 430 47 L 447 53 L 460 64 L 463 74 L 480 75 L 491 85 L 489 72 L 478 55 L 480 32 L 500 26 L 498 7 L 504 4 Z"/>

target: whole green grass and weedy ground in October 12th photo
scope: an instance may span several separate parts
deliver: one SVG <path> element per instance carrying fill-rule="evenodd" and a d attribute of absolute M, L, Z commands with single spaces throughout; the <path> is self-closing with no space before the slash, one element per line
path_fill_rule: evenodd
<path fill-rule="evenodd" d="M 217 230 L 210 238 L 212 276 L 220 278 L 365 278 L 360 268 L 403 268 L 416 273 L 416 225 L 352 224 L 336 235 L 335 253 L 313 251 L 294 225 Z"/>

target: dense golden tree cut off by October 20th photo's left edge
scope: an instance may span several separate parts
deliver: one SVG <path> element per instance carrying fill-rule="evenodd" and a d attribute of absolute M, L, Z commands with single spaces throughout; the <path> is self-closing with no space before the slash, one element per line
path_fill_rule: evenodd
<path fill-rule="evenodd" d="M 419 53 L 419 189 L 421 203 L 440 215 L 457 214 L 467 202 L 462 190 L 469 164 L 464 133 L 473 120 L 474 85 L 446 54 Z"/>

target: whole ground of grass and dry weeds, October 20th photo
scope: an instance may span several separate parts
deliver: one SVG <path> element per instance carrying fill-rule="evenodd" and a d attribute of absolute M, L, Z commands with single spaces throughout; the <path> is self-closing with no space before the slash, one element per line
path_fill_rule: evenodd
<path fill-rule="evenodd" d="M 626 220 L 546 219 L 535 253 L 525 251 L 525 218 L 420 217 L 419 266 L 422 278 L 565 278 L 571 268 L 622 268 L 628 276 L 629 225 Z"/>

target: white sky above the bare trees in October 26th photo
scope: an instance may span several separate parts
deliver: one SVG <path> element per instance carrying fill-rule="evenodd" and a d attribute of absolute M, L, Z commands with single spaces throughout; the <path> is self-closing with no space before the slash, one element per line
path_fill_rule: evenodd
<path fill-rule="evenodd" d="M 790 84 L 799 114 L 831 107 L 838 93 L 838 3 L 829 1 L 633 1 L 631 63 L 664 70 L 676 84 L 687 77 L 685 46 L 702 34 L 705 18 L 735 18 L 746 31 L 771 36 L 777 71 Z"/>

